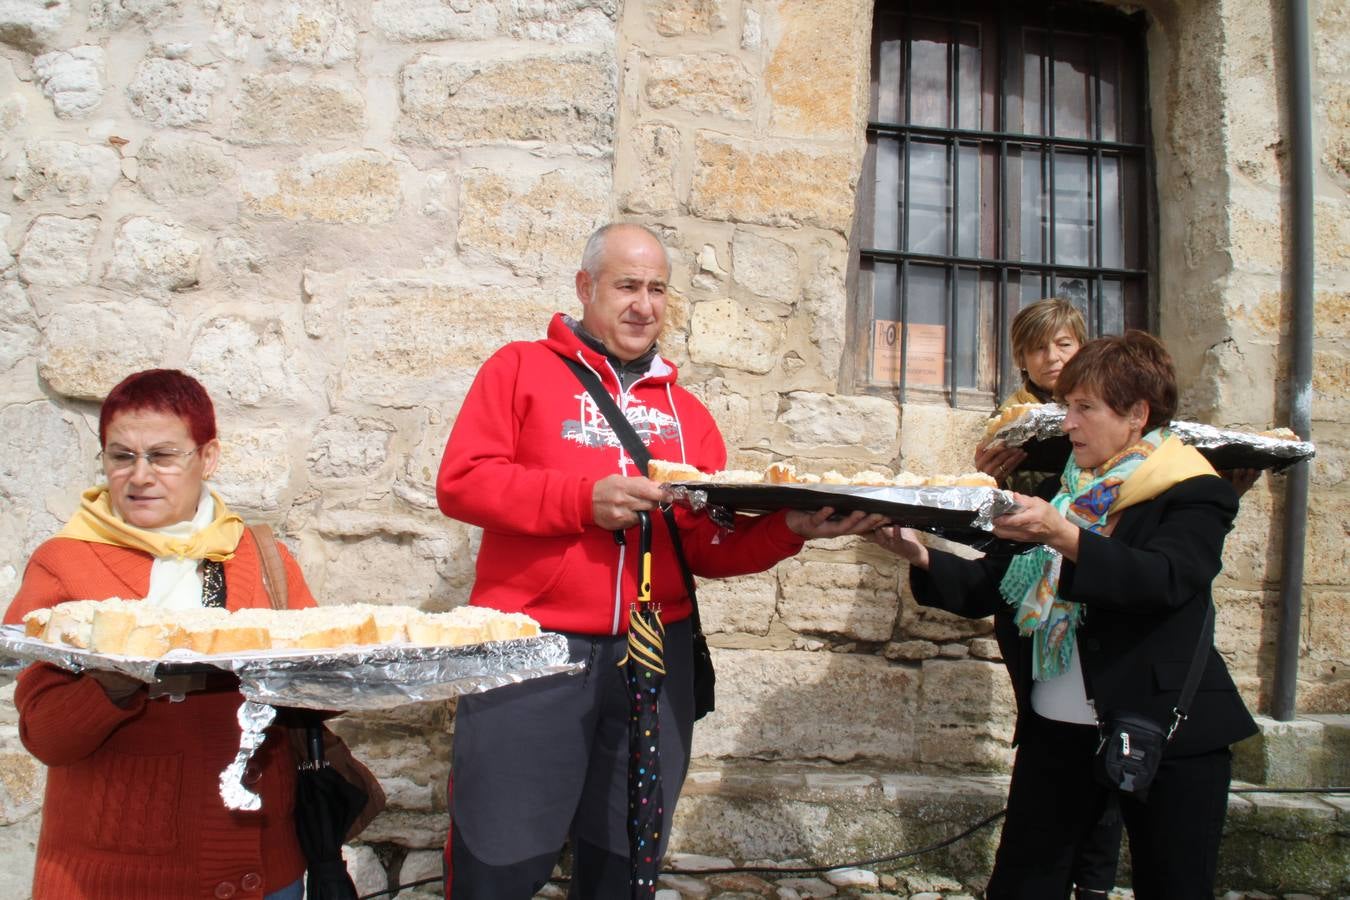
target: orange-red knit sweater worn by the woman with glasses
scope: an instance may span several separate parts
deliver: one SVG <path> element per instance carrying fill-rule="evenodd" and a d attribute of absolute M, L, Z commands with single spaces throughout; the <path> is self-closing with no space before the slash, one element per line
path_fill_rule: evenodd
<path fill-rule="evenodd" d="M 313 606 L 300 567 L 281 549 L 290 606 Z M 28 560 L 5 622 L 72 599 L 144 596 L 153 559 L 107 544 L 53 538 Z M 230 609 L 270 606 L 252 534 L 224 564 Z M 235 691 L 123 708 L 92 679 L 51 665 L 19 676 L 19 734 L 47 768 L 32 896 L 165 900 L 262 897 L 304 874 L 293 820 L 296 764 L 279 731 L 246 781 L 258 812 L 227 810 L 220 773 L 239 750 Z"/>

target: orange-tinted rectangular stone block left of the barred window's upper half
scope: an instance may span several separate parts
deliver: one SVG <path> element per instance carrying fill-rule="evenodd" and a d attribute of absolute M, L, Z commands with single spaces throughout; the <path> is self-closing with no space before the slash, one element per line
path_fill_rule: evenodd
<path fill-rule="evenodd" d="M 701 131 L 688 208 L 714 221 L 848 235 L 857 165 L 852 151 L 757 143 Z"/>

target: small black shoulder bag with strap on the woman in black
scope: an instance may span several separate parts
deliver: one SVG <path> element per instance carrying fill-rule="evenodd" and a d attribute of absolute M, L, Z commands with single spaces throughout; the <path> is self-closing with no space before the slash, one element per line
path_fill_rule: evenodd
<path fill-rule="evenodd" d="M 1098 783 L 1123 793 L 1133 793 L 1141 800 L 1149 795 L 1153 777 L 1162 761 L 1162 752 L 1176 734 L 1177 726 L 1185 721 L 1187 710 L 1191 708 L 1212 641 L 1214 603 L 1210 603 L 1204 613 L 1204 625 L 1200 626 L 1200 640 L 1191 656 L 1191 668 L 1187 669 L 1177 704 L 1172 707 L 1172 723 L 1166 730 L 1157 721 L 1137 712 L 1111 712 L 1098 722 L 1102 741 L 1092 760 L 1092 773 Z"/>

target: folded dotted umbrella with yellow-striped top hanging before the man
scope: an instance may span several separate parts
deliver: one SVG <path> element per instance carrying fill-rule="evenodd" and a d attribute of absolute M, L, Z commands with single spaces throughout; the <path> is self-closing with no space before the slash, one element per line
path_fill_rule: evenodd
<path fill-rule="evenodd" d="M 656 896 L 660 870 L 662 793 L 660 694 L 666 677 L 666 627 L 652 603 L 652 519 L 637 514 L 641 583 L 628 611 L 628 858 L 633 900 Z"/>

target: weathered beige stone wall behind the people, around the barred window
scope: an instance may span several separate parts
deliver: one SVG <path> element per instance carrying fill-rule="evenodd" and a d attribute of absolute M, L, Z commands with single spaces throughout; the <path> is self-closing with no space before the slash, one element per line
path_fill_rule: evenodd
<path fill-rule="evenodd" d="M 325 603 L 447 609 L 478 536 L 433 476 L 477 366 L 572 310 L 585 236 L 667 236 L 663 348 L 736 467 L 964 470 L 987 410 L 840 393 L 868 0 L 0 0 L 0 599 L 97 472 L 99 398 L 177 366 L 217 403 L 216 487 Z M 1287 416 L 1282 20 L 1149 0 L 1160 317 L 1184 413 Z M 1318 317 L 1300 707 L 1350 708 L 1350 13 L 1314 3 Z M 1219 644 L 1273 665 L 1282 486 L 1243 499 Z M 695 753 L 1007 765 L 986 622 L 921 610 L 855 541 L 702 590 L 720 708 Z M 429 865 L 451 715 L 343 726 L 390 788 L 366 835 Z M 42 769 L 0 704 L 0 896 Z"/>

